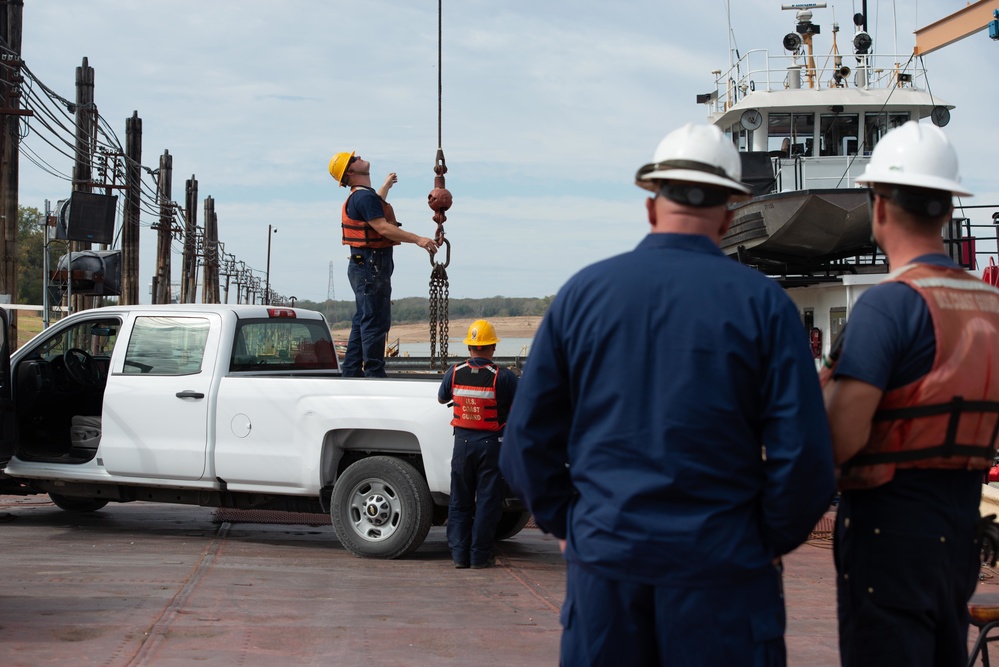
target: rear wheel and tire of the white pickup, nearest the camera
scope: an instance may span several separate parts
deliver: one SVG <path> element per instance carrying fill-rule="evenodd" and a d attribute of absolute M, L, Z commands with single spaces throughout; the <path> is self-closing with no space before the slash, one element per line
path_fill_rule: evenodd
<path fill-rule="evenodd" d="M 399 558 L 423 544 L 434 501 L 416 468 L 371 456 L 343 471 L 333 487 L 330 518 L 344 549 L 367 558 Z"/>

